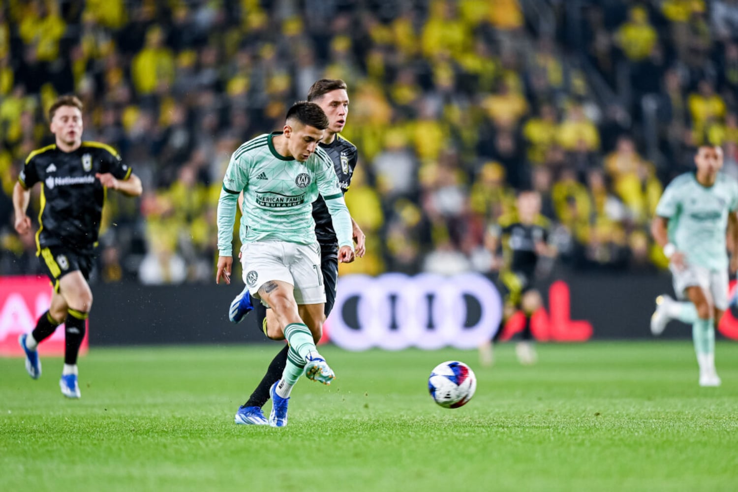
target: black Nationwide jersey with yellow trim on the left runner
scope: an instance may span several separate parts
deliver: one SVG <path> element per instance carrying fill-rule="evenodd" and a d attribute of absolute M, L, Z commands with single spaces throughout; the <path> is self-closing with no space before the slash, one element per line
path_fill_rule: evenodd
<path fill-rule="evenodd" d="M 100 232 L 105 187 L 95 173 L 111 173 L 128 179 L 131 168 L 108 145 L 82 142 L 80 148 L 63 152 L 56 145 L 34 150 L 18 176 L 28 190 L 41 183 L 36 246 L 67 246 L 92 250 Z"/>

